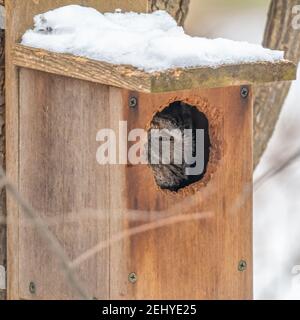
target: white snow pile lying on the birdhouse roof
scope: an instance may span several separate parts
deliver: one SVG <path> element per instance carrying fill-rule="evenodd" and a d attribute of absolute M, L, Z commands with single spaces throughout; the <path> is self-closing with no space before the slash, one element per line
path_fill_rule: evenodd
<path fill-rule="evenodd" d="M 148 72 L 283 59 L 283 52 L 260 45 L 190 37 L 164 11 L 102 14 L 77 5 L 37 15 L 22 44 Z"/>

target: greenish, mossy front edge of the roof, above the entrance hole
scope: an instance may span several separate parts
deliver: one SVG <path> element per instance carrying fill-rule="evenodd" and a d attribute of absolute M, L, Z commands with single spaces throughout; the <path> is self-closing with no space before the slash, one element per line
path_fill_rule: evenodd
<path fill-rule="evenodd" d="M 219 88 L 296 79 L 296 65 L 289 61 L 224 65 L 218 68 L 176 69 L 153 75 L 152 92 L 194 88 Z"/>

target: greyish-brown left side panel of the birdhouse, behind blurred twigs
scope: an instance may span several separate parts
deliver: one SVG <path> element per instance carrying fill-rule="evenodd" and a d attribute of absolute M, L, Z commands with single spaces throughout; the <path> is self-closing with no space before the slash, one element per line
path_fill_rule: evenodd
<path fill-rule="evenodd" d="M 96 161 L 108 100 L 107 86 L 20 70 L 20 192 L 71 260 L 108 238 L 109 172 Z M 75 299 L 55 254 L 23 213 L 19 223 L 20 298 Z M 109 297 L 108 261 L 106 249 L 78 270 L 91 298 Z"/>

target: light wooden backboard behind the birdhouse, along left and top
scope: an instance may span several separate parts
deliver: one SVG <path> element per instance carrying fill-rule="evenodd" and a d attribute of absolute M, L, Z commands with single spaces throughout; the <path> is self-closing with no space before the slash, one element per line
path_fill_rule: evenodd
<path fill-rule="evenodd" d="M 32 26 L 33 17 L 41 12 L 67 4 L 91 6 L 99 11 L 133 10 L 146 12 L 147 0 L 7 0 L 6 9 L 6 161 L 7 176 L 19 187 L 19 73 L 12 63 L 11 52 L 24 32 Z M 10 195 L 8 212 L 8 298 L 18 299 L 19 292 L 19 207 Z"/>

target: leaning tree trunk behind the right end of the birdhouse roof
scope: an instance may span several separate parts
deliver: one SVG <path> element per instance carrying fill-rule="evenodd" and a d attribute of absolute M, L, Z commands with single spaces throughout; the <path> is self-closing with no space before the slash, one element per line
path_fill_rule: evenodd
<path fill-rule="evenodd" d="M 292 8 L 300 0 L 272 0 L 263 46 L 283 50 L 286 59 L 300 60 L 300 30 L 292 27 Z M 254 103 L 254 166 L 259 163 L 270 140 L 291 83 L 278 82 L 255 87 Z"/>

